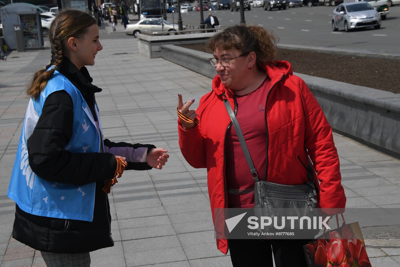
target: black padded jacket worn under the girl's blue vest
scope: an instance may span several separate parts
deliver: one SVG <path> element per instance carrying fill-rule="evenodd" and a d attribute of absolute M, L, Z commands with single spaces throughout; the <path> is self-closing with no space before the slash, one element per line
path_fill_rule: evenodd
<path fill-rule="evenodd" d="M 50 66 L 48 66 L 50 67 Z M 60 73 L 80 91 L 97 121 L 94 93 L 102 91 L 92 85 L 87 69 L 78 70 L 64 57 Z M 93 221 L 69 220 L 32 215 L 16 205 L 13 237 L 39 251 L 83 253 L 112 247 L 110 204 L 102 187 L 114 176 L 116 160 L 110 153 L 71 153 L 63 150 L 72 136 L 73 102 L 66 91 L 50 94 L 42 115 L 27 140 L 29 164 L 40 178 L 68 184 L 96 182 Z M 155 148 L 153 145 L 113 143 L 108 147 L 129 146 Z M 128 163 L 126 170 L 149 170 L 147 163 Z"/>

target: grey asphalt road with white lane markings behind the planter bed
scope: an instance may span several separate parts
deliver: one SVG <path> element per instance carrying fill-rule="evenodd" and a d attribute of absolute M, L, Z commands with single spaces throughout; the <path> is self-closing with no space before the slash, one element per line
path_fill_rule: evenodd
<path fill-rule="evenodd" d="M 332 6 L 314 6 L 287 8 L 286 10 L 264 11 L 253 8 L 244 12 L 247 24 L 263 26 L 273 30 L 280 38 L 280 44 L 292 44 L 314 47 L 332 47 L 339 49 L 369 50 L 374 53 L 393 53 L 400 55 L 400 5 L 390 7 L 390 14 L 382 21 L 379 30 L 372 28 L 352 32 L 333 32 L 331 28 Z M 230 10 L 204 11 L 217 16 L 220 25 L 240 23 L 240 12 Z M 172 22 L 172 13 L 167 15 Z M 174 22 L 178 16 L 174 14 Z M 200 12 L 182 14 L 183 24 L 200 24 Z"/>

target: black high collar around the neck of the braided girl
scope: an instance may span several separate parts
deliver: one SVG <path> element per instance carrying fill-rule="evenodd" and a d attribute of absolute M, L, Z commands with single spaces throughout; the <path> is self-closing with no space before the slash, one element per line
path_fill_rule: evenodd
<path fill-rule="evenodd" d="M 50 67 L 51 65 L 48 65 L 46 69 Z M 82 69 L 79 70 L 68 57 L 63 57 L 61 66 L 58 67 L 58 72 L 67 77 L 67 79 L 79 89 L 85 99 L 86 97 L 94 95 L 94 93 L 102 91 L 101 88 L 92 85 L 93 79 L 90 77 L 88 69 L 82 67 Z"/>

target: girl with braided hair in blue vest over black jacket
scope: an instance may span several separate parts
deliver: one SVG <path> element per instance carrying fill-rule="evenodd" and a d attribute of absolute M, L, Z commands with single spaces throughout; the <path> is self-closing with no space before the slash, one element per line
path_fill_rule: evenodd
<path fill-rule="evenodd" d="M 50 266 L 90 266 L 90 251 L 112 247 L 106 192 L 126 170 L 161 169 L 168 154 L 153 145 L 103 140 L 85 65 L 102 50 L 96 19 L 58 13 L 50 27 L 50 65 L 34 74 L 8 196 L 16 201 L 13 237 Z"/>

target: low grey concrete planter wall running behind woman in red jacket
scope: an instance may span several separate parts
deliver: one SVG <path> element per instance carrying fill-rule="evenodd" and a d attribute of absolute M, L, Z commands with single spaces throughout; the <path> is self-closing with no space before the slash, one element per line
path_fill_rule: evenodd
<path fill-rule="evenodd" d="M 211 54 L 172 44 L 161 45 L 161 57 L 210 78 Z M 310 87 L 336 131 L 400 157 L 400 94 L 295 73 Z"/>

